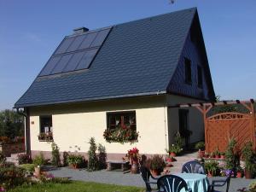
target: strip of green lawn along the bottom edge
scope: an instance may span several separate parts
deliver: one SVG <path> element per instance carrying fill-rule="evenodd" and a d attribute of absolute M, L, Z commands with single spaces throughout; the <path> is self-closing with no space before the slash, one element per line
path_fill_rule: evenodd
<path fill-rule="evenodd" d="M 143 192 L 145 189 L 137 187 L 119 186 L 92 182 L 72 183 L 38 183 L 32 186 L 20 186 L 9 192 Z"/>

